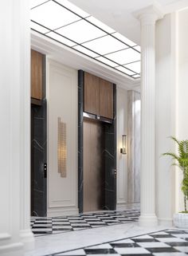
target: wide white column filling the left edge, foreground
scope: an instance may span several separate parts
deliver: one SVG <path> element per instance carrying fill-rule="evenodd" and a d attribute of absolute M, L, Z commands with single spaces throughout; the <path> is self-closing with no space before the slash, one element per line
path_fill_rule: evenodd
<path fill-rule="evenodd" d="M 29 228 L 29 1 L 0 11 L 0 255 L 22 256 Z"/>

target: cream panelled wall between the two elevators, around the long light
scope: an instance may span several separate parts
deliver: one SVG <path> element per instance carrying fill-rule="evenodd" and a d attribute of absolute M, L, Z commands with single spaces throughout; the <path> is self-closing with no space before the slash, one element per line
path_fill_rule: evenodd
<path fill-rule="evenodd" d="M 77 71 L 48 60 L 48 215 L 76 214 Z M 67 177 L 57 171 L 57 117 L 67 127 Z"/>

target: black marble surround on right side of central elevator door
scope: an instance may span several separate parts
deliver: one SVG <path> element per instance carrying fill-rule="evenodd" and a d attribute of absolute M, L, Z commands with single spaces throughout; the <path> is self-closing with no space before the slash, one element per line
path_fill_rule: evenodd
<path fill-rule="evenodd" d="M 113 124 L 104 124 L 104 209 L 116 210 L 116 85 Z"/>

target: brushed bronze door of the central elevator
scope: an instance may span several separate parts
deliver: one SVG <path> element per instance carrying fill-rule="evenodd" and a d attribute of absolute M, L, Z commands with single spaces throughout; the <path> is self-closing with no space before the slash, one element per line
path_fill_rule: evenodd
<path fill-rule="evenodd" d="M 84 120 L 84 212 L 104 207 L 104 127 Z"/>

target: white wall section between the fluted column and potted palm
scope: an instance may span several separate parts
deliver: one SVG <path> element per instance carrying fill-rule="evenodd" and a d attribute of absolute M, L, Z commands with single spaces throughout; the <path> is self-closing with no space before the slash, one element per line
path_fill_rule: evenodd
<path fill-rule="evenodd" d="M 166 15 L 156 25 L 156 119 L 155 184 L 156 215 L 159 224 L 172 224 L 175 203 L 174 168 L 164 152 L 174 152 L 169 136 L 176 136 L 176 70 L 174 14 Z"/>

